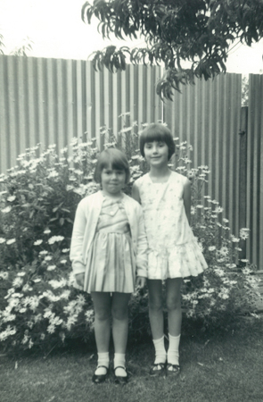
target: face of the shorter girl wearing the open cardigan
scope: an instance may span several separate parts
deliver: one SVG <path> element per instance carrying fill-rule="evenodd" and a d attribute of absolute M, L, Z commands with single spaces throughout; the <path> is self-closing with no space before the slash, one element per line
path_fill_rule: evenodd
<path fill-rule="evenodd" d="M 103 192 L 108 196 L 119 196 L 126 182 L 124 170 L 112 169 L 111 166 L 104 168 L 101 175 Z"/>

